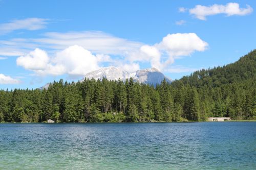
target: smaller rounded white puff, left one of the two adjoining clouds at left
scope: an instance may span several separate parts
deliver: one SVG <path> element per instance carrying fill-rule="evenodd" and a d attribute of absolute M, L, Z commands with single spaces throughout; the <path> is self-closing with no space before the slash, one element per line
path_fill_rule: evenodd
<path fill-rule="evenodd" d="M 29 70 L 42 70 L 47 67 L 49 57 L 47 53 L 39 48 L 30 52 L 26 56 L 20 56 L 17 58 L 16 63 L 19 66 L 23 66 Z"/>

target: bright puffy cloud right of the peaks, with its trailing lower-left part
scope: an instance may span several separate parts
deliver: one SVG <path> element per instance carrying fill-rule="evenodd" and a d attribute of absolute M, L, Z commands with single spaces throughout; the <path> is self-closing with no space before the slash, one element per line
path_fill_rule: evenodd
<path fill-rule="evenodd" d="M 154 45 L 143 45 L 130 61 L 150 61 L 151 66 L 164 70 L 181 56 L 189 56 L 194 52 L 203 52 L 208 43 L 195 33 L 168 34 L 162 41 Z M 135 58 L 134 56 L 137 56 Z"/>

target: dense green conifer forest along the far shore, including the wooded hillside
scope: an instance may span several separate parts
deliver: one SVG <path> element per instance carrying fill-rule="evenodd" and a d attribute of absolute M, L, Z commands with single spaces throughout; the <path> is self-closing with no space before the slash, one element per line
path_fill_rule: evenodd
<path fill-rule="evenodd" d="M 0 91 L 0 122 L 172 122 L 209 116 L 256 119 L 256 50 L 223 67 L 156 87 L 130 80 Z"/>

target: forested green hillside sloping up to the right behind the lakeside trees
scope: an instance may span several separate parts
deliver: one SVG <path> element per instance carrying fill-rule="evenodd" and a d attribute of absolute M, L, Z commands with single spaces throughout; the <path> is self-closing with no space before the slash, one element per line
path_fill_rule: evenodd
<path fill-rule="evenodd" d="M 204 85 L 220 87 L 224 84 L 240 83 L 247 80 L 256 80 L 256 50 L 241 57 L 238 61 L 224 66 L 195 71 L 189 76 L 174 81 L 173 85 L 180 83 L 194 87 Z"/>

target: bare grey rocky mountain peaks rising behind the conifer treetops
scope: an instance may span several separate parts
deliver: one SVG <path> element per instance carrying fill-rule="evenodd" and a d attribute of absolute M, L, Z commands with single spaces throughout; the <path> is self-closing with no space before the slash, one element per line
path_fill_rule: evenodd
<path fill-rule="evenodd" d="M 140 69 L 135 72 L 129 73 L 119 67 L 109 66 L 104 67 L 92 72 L 89 72 L 84 78 L 87 79 L 100 79 L 106 78 L 108 80 L 120 80 L 125 81 L 126 79 L 133 78 L 134 81 L 139 81 L 140 83 L 145 84 L 153 84 L 156 86 L 160 84 L 163 79 L 167 82 L 172 82 L 172 79 L 165 77 L 162 72 L 160 72 L 156 68 L 147 68 L 147 69 Z"/>

